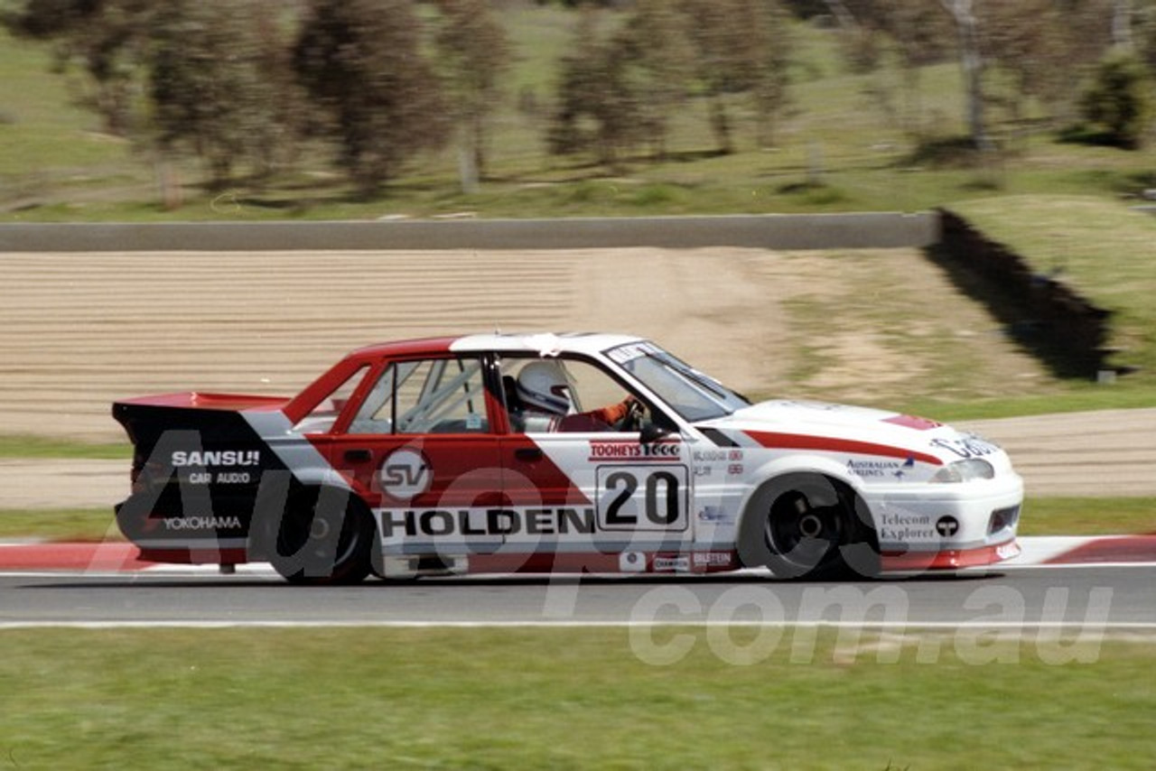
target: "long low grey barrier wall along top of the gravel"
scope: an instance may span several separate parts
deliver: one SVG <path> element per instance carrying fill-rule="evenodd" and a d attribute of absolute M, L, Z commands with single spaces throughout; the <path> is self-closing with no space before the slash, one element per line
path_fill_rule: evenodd
<path fill-rule="evenodd" d="M 939 228 L 935 213 L 399 222 L 15 223 L 0 224 L 0 253 L 628 246 L 921 249 L 939 242 Z"/>

